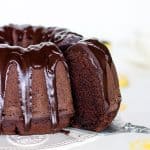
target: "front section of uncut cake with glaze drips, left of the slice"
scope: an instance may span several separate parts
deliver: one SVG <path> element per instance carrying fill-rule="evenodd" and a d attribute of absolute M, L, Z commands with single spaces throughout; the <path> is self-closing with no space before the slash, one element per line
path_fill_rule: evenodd
<path fill-rule="evenodd" d="M 73 116 L 68 68 L 51 42 L 0 45 L 0 133 L 44 134 Z"/>

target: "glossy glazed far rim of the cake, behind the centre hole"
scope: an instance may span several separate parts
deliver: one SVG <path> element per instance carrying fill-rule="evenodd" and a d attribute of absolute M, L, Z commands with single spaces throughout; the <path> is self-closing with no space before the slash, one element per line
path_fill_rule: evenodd
<path fill-rule="evenodd" d="M 77 43 L 83 37 L 65 28 L 13 25 L 0 28 L 0 43 L 27 47 L 41 42 L 53 42 L 61 50 Z"/>

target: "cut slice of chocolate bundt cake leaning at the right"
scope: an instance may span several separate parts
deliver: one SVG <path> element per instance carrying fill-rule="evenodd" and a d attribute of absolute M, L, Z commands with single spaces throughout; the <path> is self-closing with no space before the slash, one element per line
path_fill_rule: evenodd
<path fill-rule="evenodd" d="M 120 91 L 108 49 L 98 40 L 83 40 L 65 52 L 74 100 L 72 126 L 104 130 L 118 111 Z"/>

